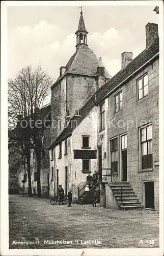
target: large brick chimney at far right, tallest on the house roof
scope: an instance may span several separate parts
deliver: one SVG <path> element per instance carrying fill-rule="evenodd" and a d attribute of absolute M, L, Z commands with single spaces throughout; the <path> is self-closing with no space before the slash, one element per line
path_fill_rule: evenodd
<path fill-rule="evenodd" d="M 146 25 L 146 48 L 158 37 L 158 25 L 155 23 L 148 23 Z"/>

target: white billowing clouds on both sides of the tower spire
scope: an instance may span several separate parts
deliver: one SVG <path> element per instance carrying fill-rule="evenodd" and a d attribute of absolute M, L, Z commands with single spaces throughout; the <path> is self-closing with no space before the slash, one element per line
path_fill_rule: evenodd
<path fill-rule="evenodd" d="M 75 52 L 75 34 L 66 35 L 55 24 L 41 20 L 34 27 L 17 27 L 8 34 L 8 74 L 13 77 L 20 69 L 40 63 L 53 78 L 58 78 L 59 68 L 66 65 Z M 142 49 L 129 29 L 110 28 L 100 34 L 88 35 L 88 44 L 97 57 L 101 56 L 104 66 L 111 75 L 121 68 L 121 53 Z"/>

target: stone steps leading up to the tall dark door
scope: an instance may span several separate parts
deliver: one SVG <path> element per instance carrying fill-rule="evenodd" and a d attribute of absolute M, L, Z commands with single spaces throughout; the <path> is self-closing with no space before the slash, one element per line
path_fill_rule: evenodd
<path fill-rule="evenodd" d="M 141 204 L 139 199 L 136 197 L 133 189 L 131 188 L 130 182 L 109 182 L 113 196 L 121 210 L 132 210 L 142 209 L 144 206 Z M 121 202 L 121 185 L 122 185 L 122 202 Z"/>

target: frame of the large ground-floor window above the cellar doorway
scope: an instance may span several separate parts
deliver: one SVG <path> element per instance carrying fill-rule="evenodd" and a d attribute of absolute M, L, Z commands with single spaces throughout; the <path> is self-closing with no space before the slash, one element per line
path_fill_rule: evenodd
<path fill-rule="evenodd" d="M 147 170 L 153 170 L 153 135 L 151 133 L 151 139 L 148 139 L 147 140 L 147 127 L 148 126 L 151 126 L 151 132 L 152 132 L 152 123 L 148 123 L 148 124 L 145 124 L 143 126 L 141 126 L 139 128 L 139 172 L 146 172 Z M 146 140 L 142 141 L 142 129 L 145 129 L 146 128 Z M 142 160 L 142 157 L 143 157 L 143 149 L 142 149 L 142 144 L 147 142 L 147 153 L 148 153 L 148 142 L 151 141 L 152 145 L 152 153 L 151 154 L 147 154 L 147 155 L 151 155 L 151 166 L 150 167 L 146 167 L 146 168 L 143 168 L 143 160 Z M 146 155 L 144 155 L 146 156 Z"/>

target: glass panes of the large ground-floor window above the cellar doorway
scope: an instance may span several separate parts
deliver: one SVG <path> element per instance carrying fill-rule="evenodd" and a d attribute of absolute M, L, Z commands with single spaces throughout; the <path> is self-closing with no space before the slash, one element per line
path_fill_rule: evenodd
<path fill-rule="evenodd" d="M 152 125 L 141 129 L 142 169 L 153 167 L 152 155 Z"/>

